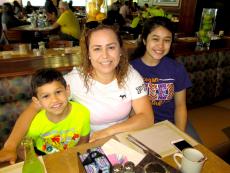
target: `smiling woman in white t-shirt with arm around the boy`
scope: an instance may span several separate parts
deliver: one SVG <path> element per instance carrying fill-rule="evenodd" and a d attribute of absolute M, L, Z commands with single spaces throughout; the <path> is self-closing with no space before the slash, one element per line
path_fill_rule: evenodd
<path fill-rule="evenodd" d="M 120 35 L 111 27 L 98 26 L 82 37 L 81 50 L 81 68 L 64 77 L 71 99 L 90 110 L 90 141 L 151 126 L 153 112 L 143 79 L 128 64 Z M 134 115 L 130 117 L 131 109 Z M 14 163 L 16 147 L 38 111 L 31 103 L 22 113 L 0 152 L 0 161 Z"/>

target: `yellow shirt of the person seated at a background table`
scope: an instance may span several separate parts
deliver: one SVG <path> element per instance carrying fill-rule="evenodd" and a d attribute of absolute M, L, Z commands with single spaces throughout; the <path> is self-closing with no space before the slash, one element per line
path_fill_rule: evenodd
<path fill-rule="evenodd" d="M 80 25 L 77 17 L 71 10 L 66 10 L 58 18 L 57 23 L 61 26 L 61 32 L 73 36 L 76 39 L 80 38 Z"/>

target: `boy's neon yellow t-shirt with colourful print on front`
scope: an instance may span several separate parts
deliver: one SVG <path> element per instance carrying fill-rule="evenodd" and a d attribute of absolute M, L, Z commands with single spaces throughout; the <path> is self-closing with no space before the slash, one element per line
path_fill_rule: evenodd
<path fill-rule="evenodd" d="M 53 153 L 76 146 L 81 136 L 90 133 L 90 112 L 80 103 L 71 102 L 71 112 L 58 123 L 50 121 L 45 110 L 41 110 L 33 119 L 27 136 L 34 146 L 46 153 Z"/>

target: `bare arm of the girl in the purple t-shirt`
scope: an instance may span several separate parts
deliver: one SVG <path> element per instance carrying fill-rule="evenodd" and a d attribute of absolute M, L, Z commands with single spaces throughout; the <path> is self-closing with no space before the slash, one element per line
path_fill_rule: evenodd
<path fill-rule="evenodd" d="M 185 131 L 187 124 L 186 89 L 175 93 L 175 124 Z"/>

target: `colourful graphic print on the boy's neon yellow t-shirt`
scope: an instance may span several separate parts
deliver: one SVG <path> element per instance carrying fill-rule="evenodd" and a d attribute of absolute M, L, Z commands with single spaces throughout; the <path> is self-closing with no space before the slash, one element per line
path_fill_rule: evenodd
<path fill-rule="evenodd" d="M 75 146 L 80 139 L 80 135 L 72 128 L 62 131 L 53 130 L 42 134 L 40 138 L 42 140 L 42 151 L 54 153 Z"/>

